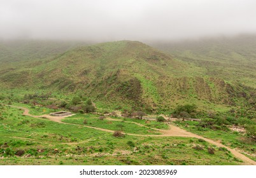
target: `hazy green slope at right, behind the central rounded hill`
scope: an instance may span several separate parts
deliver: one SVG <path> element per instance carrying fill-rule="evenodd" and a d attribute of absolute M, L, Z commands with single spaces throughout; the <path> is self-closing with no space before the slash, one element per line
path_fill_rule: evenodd
<path fill-rule="evenodd" d="M 202 67 L 205 75 L 256 87 L 256 35 L 150 44 Z"/>

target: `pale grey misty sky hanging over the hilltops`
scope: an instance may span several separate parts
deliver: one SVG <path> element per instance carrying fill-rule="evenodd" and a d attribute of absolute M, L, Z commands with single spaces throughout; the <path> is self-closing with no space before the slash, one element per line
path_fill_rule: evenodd
<path fill-rule="evenodd" d="M 176 40 L 256 33 L 255 0 L 0 0 L 0 39 Z"/>

